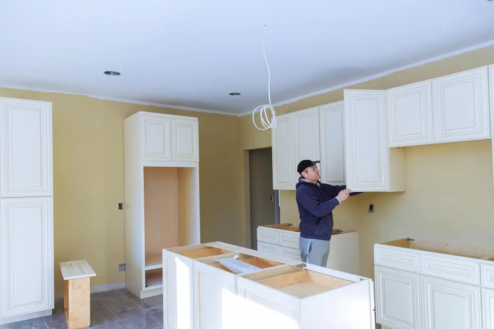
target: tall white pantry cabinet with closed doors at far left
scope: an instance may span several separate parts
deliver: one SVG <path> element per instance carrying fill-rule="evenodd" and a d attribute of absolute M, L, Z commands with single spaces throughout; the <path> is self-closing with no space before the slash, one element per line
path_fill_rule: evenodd
<path fill-rule="evenodd" d="M 52 105 L 0 97 L 0 324 L 50 315 Z"/>

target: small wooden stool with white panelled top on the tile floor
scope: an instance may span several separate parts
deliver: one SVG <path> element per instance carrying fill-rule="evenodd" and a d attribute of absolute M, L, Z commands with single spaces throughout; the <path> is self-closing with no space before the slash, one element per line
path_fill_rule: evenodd
<path fill-rule="evenodd" d="M 60 263 L 64 279 L 63 308 L 69 329 L 87 328 L 91 324 L 89 279 L 96 276 L 86 260 Z"/>

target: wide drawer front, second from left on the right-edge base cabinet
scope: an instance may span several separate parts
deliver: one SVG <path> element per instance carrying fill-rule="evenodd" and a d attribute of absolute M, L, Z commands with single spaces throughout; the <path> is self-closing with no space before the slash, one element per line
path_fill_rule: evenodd
<path fill-rule="evenodd" d="M 480 266 L 476 262 L 432 255 L 421 255 L 420 258 L 422 274 L 480 285 Z"/>

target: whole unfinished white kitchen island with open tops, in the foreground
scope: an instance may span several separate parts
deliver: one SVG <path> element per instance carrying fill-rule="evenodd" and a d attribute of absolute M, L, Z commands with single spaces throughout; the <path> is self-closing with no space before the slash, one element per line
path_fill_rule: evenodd
<path fill-rule="evenodd" d="M 371 279 L 222 242 L 164 249 L 163 282 L 168 329 L 374 329 Z"/>

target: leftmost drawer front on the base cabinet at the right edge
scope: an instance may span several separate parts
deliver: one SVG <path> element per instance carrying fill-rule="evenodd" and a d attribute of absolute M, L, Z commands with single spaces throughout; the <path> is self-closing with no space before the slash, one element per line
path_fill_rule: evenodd
<path fill-rule="evenodd" d="M 401 250 L 374 247 L 374 264 L 420 272 L 420 255 Z"/>

